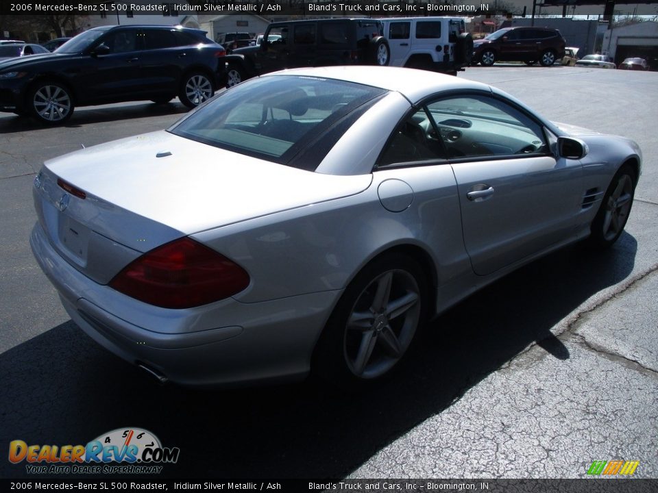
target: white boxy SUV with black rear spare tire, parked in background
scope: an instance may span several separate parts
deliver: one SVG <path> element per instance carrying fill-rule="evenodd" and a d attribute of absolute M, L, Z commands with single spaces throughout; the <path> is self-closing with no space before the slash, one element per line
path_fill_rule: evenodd
<path fill-rule="evenodd" d="M 468 66 L 473 38 L 463 17 L 382 18 L 391 49 L 391 66 L 456 75 Z"/>

